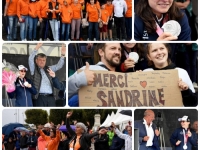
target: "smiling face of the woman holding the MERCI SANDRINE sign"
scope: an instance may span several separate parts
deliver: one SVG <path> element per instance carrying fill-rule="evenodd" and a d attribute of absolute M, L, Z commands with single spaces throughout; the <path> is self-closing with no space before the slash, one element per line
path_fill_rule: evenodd
<path fill-rule="evenodd" d="M 168 66 L 168 49 L 163 43 L 152 43 L 148 46 L 147 57 L 156 68 Z"/>

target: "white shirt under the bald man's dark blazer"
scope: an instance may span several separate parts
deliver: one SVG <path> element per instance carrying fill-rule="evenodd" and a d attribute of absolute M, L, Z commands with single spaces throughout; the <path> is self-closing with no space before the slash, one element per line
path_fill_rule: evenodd
<path fill-rule="evenodd" d="M 152 146 L 153 145 L 153 138 L 154 138 L 154 131 L 153 131 L 153 128 L 152 128 L 152 122 L 148 126 L 146 120 L 144 119 L 144 125 L 145 125 L 146 131 L 147 131 L 147 136 L 149 137 L 149 139 L 146 143 L 146 146 Z"/>

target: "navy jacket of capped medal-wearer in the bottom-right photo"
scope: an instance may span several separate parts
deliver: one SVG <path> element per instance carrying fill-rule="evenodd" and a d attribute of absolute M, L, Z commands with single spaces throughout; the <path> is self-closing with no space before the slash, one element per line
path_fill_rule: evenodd
<path fill-rule="evenodd" d="M 187 131 L 186 131 L 187 132 Z M 191 137 L 188 137 L 187 140 L 187 150 L 192 150 L 192 146 L 197 146 L 197 136 L 196 133 L 190 131 L 192 133 Z M 181 141 L 179 145 L 176 145 L 177 141 Z M 184 145 L 184 136 L 183 136 L 183 128 L 177 128 L 170 137 L 170 142 L 173 146 L 175 146 L 175 150 L 183 150 Z"/>

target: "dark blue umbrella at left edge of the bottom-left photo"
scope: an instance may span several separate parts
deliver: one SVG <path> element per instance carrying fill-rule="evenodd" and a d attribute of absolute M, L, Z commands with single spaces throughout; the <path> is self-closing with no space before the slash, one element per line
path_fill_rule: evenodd
<path fill-rule="evenodd" d="M 9 135 L 15 128 L 24 127 L 21 123 L 9 123 L 2 127 L 2 134 Z"/>

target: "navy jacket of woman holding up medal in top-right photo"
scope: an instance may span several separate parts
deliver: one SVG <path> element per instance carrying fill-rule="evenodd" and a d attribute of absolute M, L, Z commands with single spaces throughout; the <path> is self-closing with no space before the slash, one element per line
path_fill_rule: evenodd
<path fill-rule="evenodd" d="M 188 23 L 188 18 L 185 15 L 184 11 L 182 11 L 184 16 L 181 20 L 179 20 L 179 24 L 181 26 L 181 33 L 178 36 L 178 41 L 191 41 L 191 30 Z M 161 25 L 162 26 L 162 25 Z M 147 33 L 145 30 L 145 25 L 143 20 L 135 15 L 134 21 L 134 39 L 136 41 L 156 41 L 158 38 L 158 34 L 156 31 L 154 33 Z"/>

